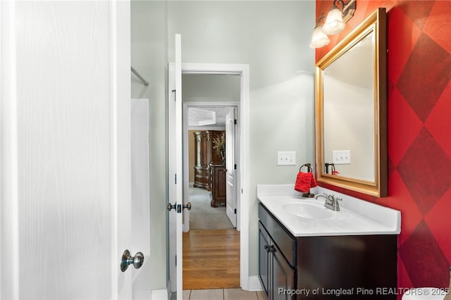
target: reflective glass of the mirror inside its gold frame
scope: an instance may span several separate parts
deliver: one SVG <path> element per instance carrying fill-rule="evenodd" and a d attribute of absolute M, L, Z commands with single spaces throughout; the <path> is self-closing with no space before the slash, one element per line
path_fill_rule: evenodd
<path fill-rule="evenodd" d="M 374 181 L 375 168 L 373 37 L 369 32 L 323 70 L 324 163 L 334 163 L 338 176 L 368 181 Z M 359 68 L 349 68 L 354 63 Z"/>

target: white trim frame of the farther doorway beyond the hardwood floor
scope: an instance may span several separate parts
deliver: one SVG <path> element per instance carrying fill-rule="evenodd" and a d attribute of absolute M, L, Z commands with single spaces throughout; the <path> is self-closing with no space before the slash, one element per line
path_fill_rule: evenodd
<path fill-rule="evenodd" d="M 182 72 L 183 74 L 183 72 Z M 186 73 L 185 73 L 186 74 Z M 189 200 L 189 185 L 190 185 L 190 158 L 189 158 L 189 143 L 188 139 L 188 130 L 190 130 L 188 126 L 188 108 L 198 108 L 198 107 L 228 107 L 228 108 L 236 108 L 237 110 L 237 135 L 235 136 L 235 163 L 237 165 L 241 165 L 240 161 L 240 151 L 237 151 L 237 149 L 240 149 L 240 123 L 238 122 L 238 116 L 240 115 L 240 102 L 239 101 L 224 101 L 224 102 L 185 102 L 183 104 L 183 199 L 184 202 L 187 202 Z M 213 126 L 204 126 L 204 129 L 202 130 L 220 130 L 218 128 L 214 128 Z M 240 168 L 237 168 L 236 178 L 237 182 L 240 182 Z M 237 191 L 237 231 L 241 230 L 240 225 L 240 193 L 238 191 L 237 186 L 235 186 L 235 189 Z M 183 232 L 190 231 L 190 213 L 188 211 L 183 211 Z"/>

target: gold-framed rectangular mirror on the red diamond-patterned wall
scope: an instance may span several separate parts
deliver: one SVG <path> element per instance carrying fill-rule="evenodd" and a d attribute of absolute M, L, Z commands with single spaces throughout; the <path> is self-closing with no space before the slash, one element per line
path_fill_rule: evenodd
<path fill-rule="evenodd" d="M 386 12 L 378 8 L 316 63 L 316 179 L 387 196 Z"/>

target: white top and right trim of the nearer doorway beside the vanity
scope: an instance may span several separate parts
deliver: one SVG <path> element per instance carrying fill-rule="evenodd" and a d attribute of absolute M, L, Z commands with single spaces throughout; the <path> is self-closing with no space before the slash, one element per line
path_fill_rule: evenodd
<path fill-rule="evenodd" d="M 249 65 L 229 63 L 182 63 L 182 74 L 240 75 L 240 178 L 237 180 L 237 228 L 240 226 L 240 286 L 249 290 Z M 173 116 L 169 116 L 168 122 Z M 172 137 L 169 137 L 171 140 Z M 238 204 L 238 199 L 240 199 Z M 186 201 L 187 199 L 184 199 Z"/>

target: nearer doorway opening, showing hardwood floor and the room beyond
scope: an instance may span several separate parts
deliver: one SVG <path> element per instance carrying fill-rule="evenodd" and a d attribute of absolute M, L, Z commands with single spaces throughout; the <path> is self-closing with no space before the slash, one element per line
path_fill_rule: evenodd
<path fill-rule="evenodd" d="M 226 165 L 239 165 L 240 152 L 240 130 L 227 122 L 239 111 L 240 75 L 183 74 L 183 186 L 192 203 L 184 215 L 183 289 L 240 287 L 236 185 L 226 189 Z M 232 182 L 240 168 L 233 171 Z"/>

